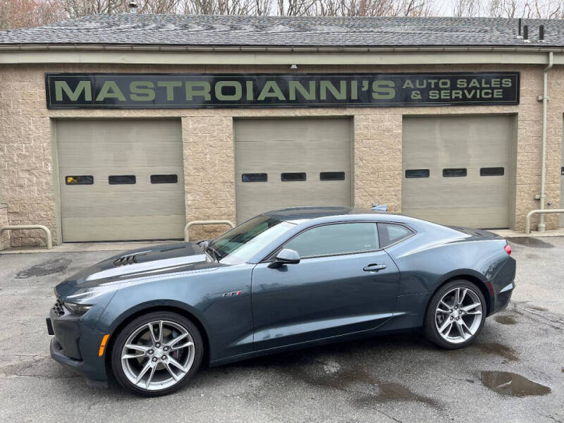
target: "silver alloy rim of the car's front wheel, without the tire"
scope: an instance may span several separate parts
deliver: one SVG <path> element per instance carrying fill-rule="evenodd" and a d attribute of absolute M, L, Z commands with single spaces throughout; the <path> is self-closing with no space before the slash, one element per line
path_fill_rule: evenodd
<path fill-rule="evenodd" d="M 131 384 L 160 391 L 178 384 L 190 371 L 195 345 L 187 329 L 169 320 L 143 324 L 121 351 L 121 367 Z"/>

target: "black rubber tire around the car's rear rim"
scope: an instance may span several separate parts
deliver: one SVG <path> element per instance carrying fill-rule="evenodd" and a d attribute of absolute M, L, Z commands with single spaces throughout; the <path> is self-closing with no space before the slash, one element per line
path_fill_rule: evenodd
<path fill-rule="evenodd" d="M 476 297 L 479 298 L 479 302 L 482 305 L 482 315 L 481 315 L 482 317 L 476 331 L 471 336 L 470 333 L 467 333 L 469 338 L 459 343 L 448 342 L 445 338 L 443 338 L 443 336 L 441 336 L 441 334 L 439 333 L 439 329 L 437 329 L 437 324 L 436 324 L 436 309 L 439 306 L 439 302 L 441 301 L 444 295 L 446 295 L 447 293 L 449 293 L 449 291 L 455 288 L 467 288 L 469 290 L 472 290 L 472 293 L 474 293 Z M 462 317 L 460 317 L 460 319 L 462 319 Z M 434 293 L 434 295 L 431 297 L 431 300 L 429 300 L 429 305 L 427 305 L 427 312 L 425 313 L 423 332 L 424 332 L 424 336 L 435 345 L 448 350 L 455 350 L 458 348 L 464 348 L 465 346 L 470 345 L 472 342 L 474 342 L 474 339 L 476 339 L 478 334 L 482 331 L 485 321 L 486 321 L 486 300 L 484 299 L 484 295 L 482 294 L 482 291 L 474 283 L 470 281 L 467 281 L 465 279 L 455 279 L 441 286 L 441 288 L 439 288 L 436 291 L 436 293 Z M 458 331 L 458 329 L 455 330 Z M 458 333 L 460 334 L 460 332 Z"/>

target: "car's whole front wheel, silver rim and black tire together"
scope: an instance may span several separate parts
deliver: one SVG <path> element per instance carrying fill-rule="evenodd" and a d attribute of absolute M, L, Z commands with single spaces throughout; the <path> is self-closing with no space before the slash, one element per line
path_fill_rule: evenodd
<path fill-rule="evenodd" d="M 181 388 L 202 363 L 202 336 L 192 322 L 172 312 L 152 312 L 118 334 L 111 367 L 121 386 L 144 396 Z"/>

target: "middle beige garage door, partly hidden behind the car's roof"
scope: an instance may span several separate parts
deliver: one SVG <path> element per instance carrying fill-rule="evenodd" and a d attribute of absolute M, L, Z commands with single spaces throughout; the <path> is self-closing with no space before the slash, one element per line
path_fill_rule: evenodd
<path fill-rule="evenodd" d="M 237 221 L 283 207 L 350 207 L 350 119 L 235 121 Z"/>

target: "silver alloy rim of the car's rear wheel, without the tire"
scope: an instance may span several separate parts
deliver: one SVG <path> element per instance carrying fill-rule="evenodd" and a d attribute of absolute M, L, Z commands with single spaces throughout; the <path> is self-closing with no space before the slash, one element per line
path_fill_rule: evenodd
<path fill-rule="evenodd" d="M 448 343 L 463 343 L 478 331 L 483 313 L 477 293 L 470 288 L 453 288 L 443 295 L 436 307 L 436 329 Z"/>

